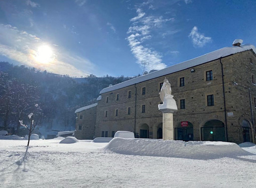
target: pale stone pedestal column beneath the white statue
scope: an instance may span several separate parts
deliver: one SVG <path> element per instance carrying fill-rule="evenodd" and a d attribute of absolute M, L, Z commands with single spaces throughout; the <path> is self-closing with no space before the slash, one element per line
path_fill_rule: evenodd
<path fill-rule="evenodd" d="M 163 112 L 163 140 L 174 140 L 173 109 L 161 109 Z"/>

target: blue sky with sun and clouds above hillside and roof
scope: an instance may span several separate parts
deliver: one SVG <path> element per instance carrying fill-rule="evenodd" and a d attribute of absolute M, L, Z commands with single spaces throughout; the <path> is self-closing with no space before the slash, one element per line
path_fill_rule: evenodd
<path fill-rule="evenodd" d="M 254 0 L 2 0 L 0 61 L 72 77 L 136 76 L 235 39 L 256 45 L 255 10 Z"/>

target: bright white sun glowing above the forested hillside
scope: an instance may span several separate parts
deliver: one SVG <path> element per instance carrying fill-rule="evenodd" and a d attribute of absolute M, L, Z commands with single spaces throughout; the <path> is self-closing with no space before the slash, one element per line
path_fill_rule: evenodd
<path fill-rule="evenodd" d="M 52 48 L 49 47 L 48 45 L 43 45 L 38 47 L 35 59 L 39 63 L 44 63 L 44 64 L 50 63 L 54 59 Z"/>

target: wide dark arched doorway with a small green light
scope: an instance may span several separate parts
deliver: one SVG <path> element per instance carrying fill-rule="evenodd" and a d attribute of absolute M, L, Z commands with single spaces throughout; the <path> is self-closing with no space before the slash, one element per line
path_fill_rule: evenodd
<path fill-rule="evenodd" d="M 202 141 L 225 141 L 225 127 L 220 120 L 214 119 L 207 121 L 201 127 Z"/>

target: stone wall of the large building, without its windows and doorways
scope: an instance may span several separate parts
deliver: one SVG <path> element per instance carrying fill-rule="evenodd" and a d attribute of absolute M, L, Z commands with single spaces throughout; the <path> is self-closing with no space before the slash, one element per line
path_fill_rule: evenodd
<path fill-rule="evenodd" d="M 220 62 L 223 65 L 226 113 Z M 158 110 L 158 104 L 161 102 L 160 84 L 166 77 L 171 84 L 172 94 L 178 106 L 178 111 L 174 113 L 175 128 L 181 127 L 181 121 L 188 121 L 193 124 L 193 140 L 201 140 L 201 128 L 205 123 L 209 120 L 219 120 L 225 125 L 225 140 L 240 143 L 243 141 L 240 123 L 246 119 L 251 123 L 252 141 L 254 141 L 250 102 L 255 117 L 256 85 L 251 83 L 251 74 L 256 75 L 255 64 L 255 54 L 249 50 L 191 67 L 194 72 L 189 68 L 103 93 L 102 99 L 98 101 L 95 135 L 98 137 L 101 136 L 102 131 L 108 131 L 110 137 L 110 133 L 117 130 L 134 131 L 140 135 L 141 129 L 148 129 L 149 138 L 158 138 L 157 131 L 162 126 L 162 112 Z M 206 72 L 210 70 L 213 79 L 206 81 Z M 185 85 L 180 87 L 182 77 Z M 142 94 L 143 88 L 146 88 L 145 95 Z M 251 100 L 248 88 L 250 88 Z M 117 94 L 118 100 L 116 100 Z M 207 95 L 214 96 L 214 106 L 207 106 Z M 185 99 L 185 109 L 180 109 L 182 99 Z M 142 111 L 143 105 L 145 112 Z M 131 114 L 128 114 L 129 107 Z M 116 110 L 118 110 L 117 114 Z M 105 117 L 106 111 L 107 117 Z M 233 115 L 230 115 L 232 113 Z"/>

